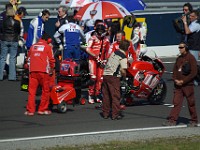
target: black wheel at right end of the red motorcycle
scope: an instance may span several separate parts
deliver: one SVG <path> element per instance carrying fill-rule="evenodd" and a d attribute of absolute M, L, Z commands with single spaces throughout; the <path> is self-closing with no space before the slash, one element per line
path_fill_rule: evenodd
<path fill-rule="evenodd" d="M 152 105 L 160 105 L 163 104 L 163 101 L 166 98 L 167 93 L 167 85 L 163 79 L 159 81 L 157 86 L 152 90 L 151 95 L 148 100 Z"/>

